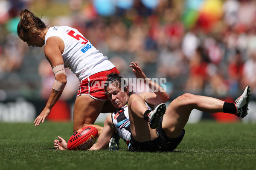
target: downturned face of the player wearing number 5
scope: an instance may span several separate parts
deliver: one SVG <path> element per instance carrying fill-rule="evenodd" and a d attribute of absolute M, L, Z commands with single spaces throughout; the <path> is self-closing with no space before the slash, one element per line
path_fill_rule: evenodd
<path fill-rule="evenodd" d="M 31 37 L 26 32 L 21 31 L 19 34 L 21 40 L 26 42 L 29 46 L 32 45 L 33 47 L 42 47 L 44 45 L 44 40 L 40 37 L 39 34 L 34 34 Z"/>

